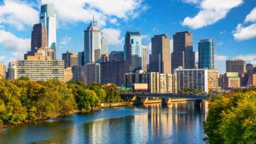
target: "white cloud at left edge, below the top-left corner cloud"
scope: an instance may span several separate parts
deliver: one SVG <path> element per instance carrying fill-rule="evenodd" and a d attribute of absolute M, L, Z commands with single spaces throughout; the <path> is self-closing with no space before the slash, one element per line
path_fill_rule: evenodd
<path fill-rule="evenodd" d="M 10 32 L 0 30 L 0 44 L 4 49 L 26 51 L 30 49 L 30 38 L 18 38 Z"/>

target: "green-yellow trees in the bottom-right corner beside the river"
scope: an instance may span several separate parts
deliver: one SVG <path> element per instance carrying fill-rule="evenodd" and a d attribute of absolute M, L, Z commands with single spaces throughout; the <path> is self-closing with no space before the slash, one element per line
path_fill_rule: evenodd
<path fill-rule="evenodd" d="M 208 143 L 256 143 L 256 87 L 209 99 L 203 129 Z"/>

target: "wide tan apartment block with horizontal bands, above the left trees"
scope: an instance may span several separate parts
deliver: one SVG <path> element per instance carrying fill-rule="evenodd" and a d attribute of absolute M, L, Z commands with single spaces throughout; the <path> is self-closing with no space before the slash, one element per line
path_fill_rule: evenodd
<path fill-rule="evenodd" d="M 64 81 L 64 60 L 52 60 L 49 56 L 28 56 L 27 60 L 17 61 L 17 78 L 22 76 L 34 81 L 50 78 Z"/>

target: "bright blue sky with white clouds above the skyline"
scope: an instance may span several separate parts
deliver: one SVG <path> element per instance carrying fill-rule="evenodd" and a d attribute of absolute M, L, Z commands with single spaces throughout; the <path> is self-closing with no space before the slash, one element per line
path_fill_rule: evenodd
<path fill-rule="evenodd" d="M 201 39 L 214 39 L 214 63 L 225 73 L 226 60 L 242 58 L 256 66 L 255 0 L 0 0 L 0 63 L 23 59 L 30 50 L 40 6 L 53 3 L 57 19 L 57 59 L 66 51 L 84 50 L 84 30 L 94 21 L 105 33 L 108 52 L 123 51 L 127 30 L 139 31 L 151 53 L 151 37 L 176 31 L 193 33 L 193 49 Z M 197 53 L 196 53 L 197 54 Z"/>

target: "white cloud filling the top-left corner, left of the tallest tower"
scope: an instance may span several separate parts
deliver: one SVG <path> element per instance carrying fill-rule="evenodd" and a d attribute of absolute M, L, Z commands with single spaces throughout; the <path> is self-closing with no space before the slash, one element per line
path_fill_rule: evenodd
<path fill-rule="evenodd" d="M 39 12 L 30 7 L 31 4 L 21 1 L 3 1 L 0 5 L 0 24 L 14 26 L 24 30 L 25 25 L 32 26 L 39 22 Z"/>

